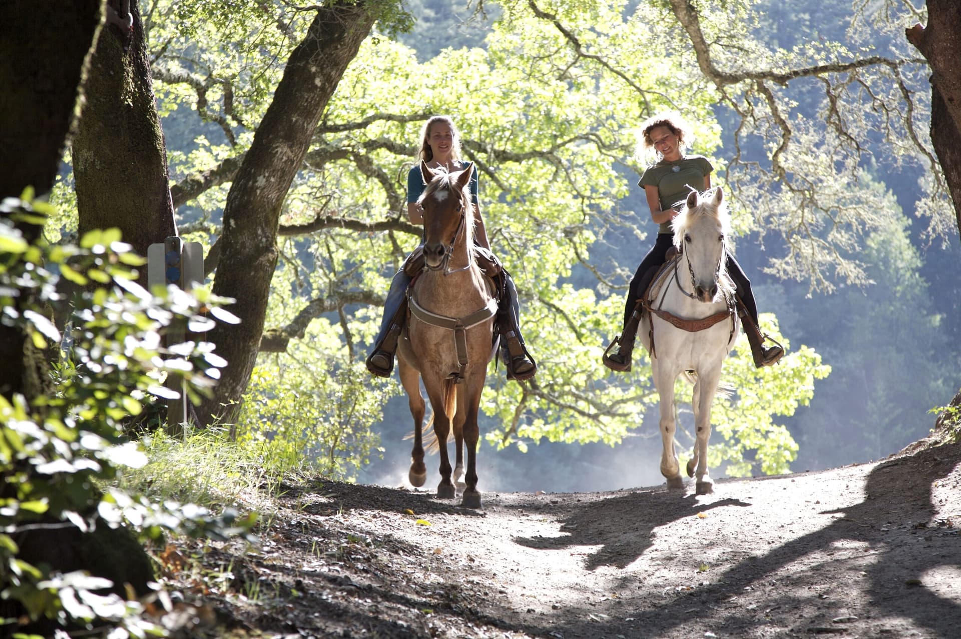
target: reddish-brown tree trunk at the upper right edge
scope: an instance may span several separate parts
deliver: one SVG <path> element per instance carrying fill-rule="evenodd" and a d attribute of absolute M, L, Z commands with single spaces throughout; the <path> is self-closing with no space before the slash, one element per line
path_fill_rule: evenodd
<path fill-rule="evenodd" d="M 927 0 L 927 25 L 906 35 L 931 65 L 931 140 L 961 231 L 961 2 Z"/>

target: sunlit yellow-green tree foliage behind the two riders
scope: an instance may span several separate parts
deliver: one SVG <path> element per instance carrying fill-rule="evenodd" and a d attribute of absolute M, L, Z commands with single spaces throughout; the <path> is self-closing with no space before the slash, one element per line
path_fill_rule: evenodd
<path fill-rule="evenodd" d="M 209 174 L 249 144 L 308 12 L 245 5 L 247 19 L 218 25 L 205 19 L 203 7 L 172 7 L 159 3 L 150 27 L 160 110 L 179 122 L 190 107 L 226 129 L 174 143 L 171 167 L 180 177 Z M 447 48 L 423 62 L 387 38 L 364 42 L 281 219 L 267 322 L 310 346 L 291 341 L 287 355 L 260 356 L 241 430 L 262 438 L 277 458 L 324 442 L 318 459 L 348 477 L 345 469 L 373 450 L 359 435 L 359 417 L 377 420 L 380 382 L 366 382 L 375 389 L 364 399 L 370 404 L 349 425 L 336 417 L 346 414 L 342 407 L 324 400 L 310 406 L 306 389 L 316 389 L 314 402 L 354 395 L 358 366 L 350 362 L 376 332 L 388 278 L 419 241 L 419 231 L 403 221 L 406 177 L 432 113 L 455 116 L 464 154 L 478 167 L 491 244 L 518 285 L 525 337 L 540 362 L 530 385 L 505 384 L 492 373 L 498 392 L 484 397 L 488 439 L 520 447 L 542 439 L 613 445 L 637 428 L 636 416 L 655 398 L 648 370 L 636 366 L 626 385 L 606 375 L 600 357 L 618 331 L 636 265 L 633 258 L 611 264 L 608 246 L 633 252 L 653 233 L 620 204 L 629 193 L 626 169 L 639 171 L 646 161 L 633 157 L 634 128 L 653 111 L 698 113 L 695 151 L 707 156 L 716 152 L 720 131 L 697 68 L 665 57 L 661 35 L 648 26 L 659 10 L 625 10 L 621 2 L 506 2 L 483 48 Z M 538 12 L 576 25 L 581 48 Z M 169 19 L 173 14 L 183 23 Z M 228 84 L 230 113 L 221 88 Z M 212 245 L 225 194 L 219 186 L 191 202 L 199 209 L 190 212 L 199 222 L 187 227 L 197 233 L 192 239 Z M 317 373 L 326 369 L 333 369 L 330 377 Z M 296 409 L 279 410 L 284 403 Z M 315 430 L 322 422 L 330 426 Z M 341 436 L 337 429 L 347 430 Z M 344 449 L 345 442 L 354 444 Z M 343 467 L 333 461 L 335 447 Z"/>

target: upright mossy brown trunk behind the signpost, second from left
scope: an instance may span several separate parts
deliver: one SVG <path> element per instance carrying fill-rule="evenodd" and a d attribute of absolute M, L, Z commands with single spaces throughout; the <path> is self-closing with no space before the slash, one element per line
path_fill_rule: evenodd
<path fill-rule="evenodd" d="M 116 227 L 146 256 L 148 246 L 177 234 L 177 227 L 137 4 L 130 3 L 133 33 L 108 23 L 97 41 L 72 150 L 78 232 Z"/>

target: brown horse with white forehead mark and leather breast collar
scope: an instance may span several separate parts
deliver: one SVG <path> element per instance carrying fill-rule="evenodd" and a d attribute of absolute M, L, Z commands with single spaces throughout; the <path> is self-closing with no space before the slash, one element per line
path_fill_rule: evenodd
<path fill-rule="evenodd" d="M 468 185 L 474 165 L 448 173 L 421 160 L 427 188 L 419 202 L 424 208 L 425 269 L 407 291 L 410 318 L 398 353 L 401 383 L 414 419 L 410 483 L 424 485 L 424 381 L 433 410 L 433 430 L 440 447 L 437 497 L 456 497 L 454 481 L 463 472 L 467 448 L 466 486 L 461 505 L 480 508 L 477 489 L 477 447 L 480 392 L 493 355 L 497 300 L 474 259 L 474 206 Z M 447 436 L 454 427 L 456 469 L 451 480 Z"/>

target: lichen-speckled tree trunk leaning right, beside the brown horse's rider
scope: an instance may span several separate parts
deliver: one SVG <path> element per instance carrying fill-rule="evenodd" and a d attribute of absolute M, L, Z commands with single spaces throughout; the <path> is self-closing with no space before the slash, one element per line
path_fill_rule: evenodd
<path fill-rule="evenodd" d="M 231 297 L 241 322 L 220 323 L 209 333 L 229 364 L 212 400 L 197 411 L 201 421 L 228 417 L 257 361 L 270 282 L 277 265 L 277 233 L 283 200 L 307 155 L 320 117 L 374 15 L 363 1 L 320 7 L 308 35 L 290 55 L 274 99 L 254 135 L 224 208 L 216 295 Z"/>

